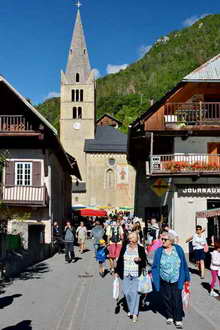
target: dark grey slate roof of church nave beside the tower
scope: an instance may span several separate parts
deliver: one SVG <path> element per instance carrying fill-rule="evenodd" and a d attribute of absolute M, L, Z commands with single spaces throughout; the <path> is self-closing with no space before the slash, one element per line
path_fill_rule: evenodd
<path fill-rule="evenodd" d="M 127 153 L 127 135 L 112 126 L 97 126 L 95 139 L 85 140 L 84 151 Z"/>

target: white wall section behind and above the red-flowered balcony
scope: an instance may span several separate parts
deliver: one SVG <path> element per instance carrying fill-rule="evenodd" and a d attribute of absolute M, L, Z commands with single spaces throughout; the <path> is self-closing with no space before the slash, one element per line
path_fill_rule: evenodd
<path fill-rule="evenodd" d="M 181 137 L 174 138 L 174 153 L 208 153 L 208 143 L 219 142 L 220 137 L 189 137 L 182 140 Z"/>

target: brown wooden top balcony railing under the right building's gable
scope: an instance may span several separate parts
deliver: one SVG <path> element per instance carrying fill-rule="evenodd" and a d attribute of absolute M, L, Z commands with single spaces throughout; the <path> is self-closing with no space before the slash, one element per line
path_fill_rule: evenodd
<path fill-rule="evenodd" d="M 165 125 L 220 124 L 219 102 L 167 103 L 164 108 Z"/>

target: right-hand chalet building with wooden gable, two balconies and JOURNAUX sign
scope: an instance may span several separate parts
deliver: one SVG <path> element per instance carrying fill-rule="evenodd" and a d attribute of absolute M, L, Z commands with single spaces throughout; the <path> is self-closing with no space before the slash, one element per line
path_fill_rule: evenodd
<path fill-rule="evenodd" d="M 220 206 L 220 57 L 191 74 L 132 123 L 128 159 L 136 169 L 135 213 L 156 217 L 180 243 L 214 222 L 196 212 Z M 212 222 L 211 222 L 212 221 Z"/>

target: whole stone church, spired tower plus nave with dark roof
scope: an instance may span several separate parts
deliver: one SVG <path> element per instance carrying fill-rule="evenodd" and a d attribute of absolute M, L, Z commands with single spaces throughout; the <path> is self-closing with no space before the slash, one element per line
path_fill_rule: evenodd
<path fill-rule="evenodd" d="M 134 205 L 135 171 L 128 165 L 127 135 L 106 114 L 96 119 L 96 83 L 77 11 L 66 71 L 61 72 L 60 139 L 77 158 L 82 181 L 73 177 L 72 205 Z"/>

